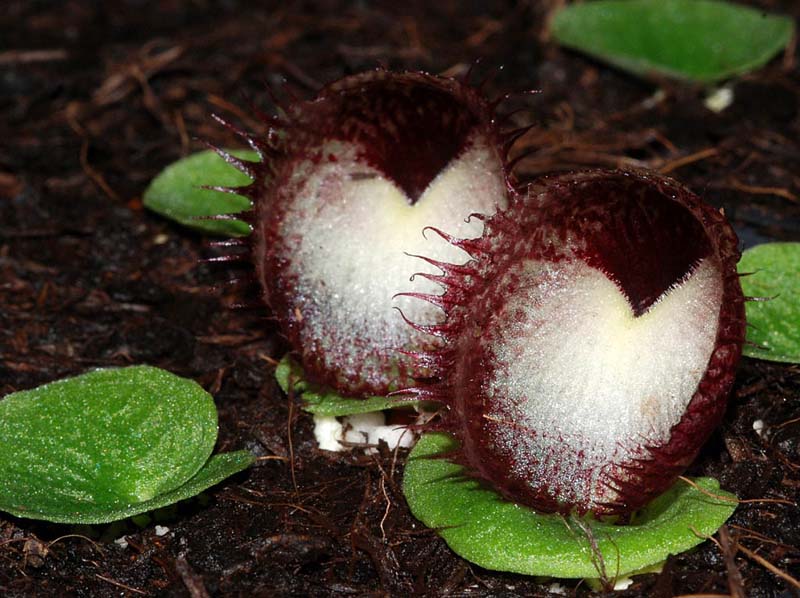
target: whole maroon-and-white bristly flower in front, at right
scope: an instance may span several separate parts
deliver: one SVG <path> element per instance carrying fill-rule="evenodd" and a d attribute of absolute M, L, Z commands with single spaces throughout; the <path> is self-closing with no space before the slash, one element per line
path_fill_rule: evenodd
<path fill-rule="evenodd" d="M 656 174 L 545 177 L 443 265 L 443 340 L 410 396 L 445 406 L 449 456 L 542 512 L 625 515 L 719 424 L 745 336 L 737 237 Z M 426 276 L 429 276 L 426 274 Z"/>

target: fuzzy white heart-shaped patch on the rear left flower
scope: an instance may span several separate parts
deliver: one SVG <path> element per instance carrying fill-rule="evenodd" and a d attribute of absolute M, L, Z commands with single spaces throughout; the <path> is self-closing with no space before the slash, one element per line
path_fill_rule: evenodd
<path fill-rule="evenodd" d="M 299 195 L 284 221 L 292 255 L 289 274 L 299 281 L 297 308 L 306 344 L 336 356 L 329 367 L 364 371 L 371 367 L 365 352 L 371 356 L 373 350 L 407 347 L 416 334 L 394 307 L 420 324 L 444 317 L 425 301 L 393 299 L 400 292 L 442 292 L 440 285 L 421 277 L 409 280 L 415 272 L 435 274 L 438 269 L 406 253 L 458 264 L 469 258 L 435 233 L 423 236 L 423 229 L 433 226 L 459 238 L 480 236 L 483 223 L 465 219 L 505 208 L 505 182 L 496 152 L 473 143 L 412 206 L 397 185 L 357 161 L 355 145 L 331 142 L 326 152 L 337 161 L 300 168 L 294 180 Z M 340 360 L 344 351 L 349 353 L 346 363 Z"/>

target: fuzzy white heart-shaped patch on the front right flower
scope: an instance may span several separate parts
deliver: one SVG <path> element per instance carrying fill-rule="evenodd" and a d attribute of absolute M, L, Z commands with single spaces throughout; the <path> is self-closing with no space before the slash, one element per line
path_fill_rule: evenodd
<path fill-rule="evenodd" d="M 620 289 L 584 262 L 528 262 L 519 274 L 529 292 L 509 300 L 490 347 L 490 393 L 509 399 L 507 411 L 489 414 L 510 422 L 497 441 L 524 479 L 553 481 L 560 498 L 613 500 L 598 483 L 603 467 L 668 441 L 705 373 L 719 269 L 704 260 L 638 318 Z"/>

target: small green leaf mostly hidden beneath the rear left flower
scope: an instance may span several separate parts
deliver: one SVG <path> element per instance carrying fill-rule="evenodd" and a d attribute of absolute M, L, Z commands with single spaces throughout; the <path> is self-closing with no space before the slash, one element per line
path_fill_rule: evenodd
<path fill-rule="evenodd" d="M 340 417 L 414 404 L 400 402 L 397 398 L 392 397 L 367 397 L 366 399 L 343 397 L 330 389 L 306 382 L 303 378 L 303 368 L 288 354 L 284 355 L 278 367 L 275 368 L 275 379 L 286 394 L 291 391 L 303 395 L 303 409 L 314 415 Z"/>

